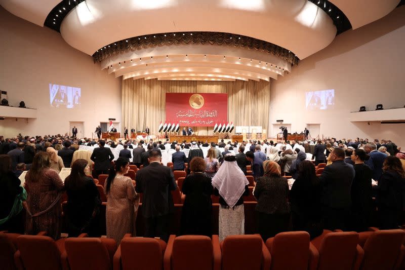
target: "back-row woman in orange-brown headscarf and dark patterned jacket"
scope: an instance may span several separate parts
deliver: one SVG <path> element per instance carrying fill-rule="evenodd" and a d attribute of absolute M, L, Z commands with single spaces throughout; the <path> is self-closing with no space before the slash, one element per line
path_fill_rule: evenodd
<path fill-rule="evenodd" d="M 273 161 L 263 162 L 264 175 L 256 182 L 253 195 L 257 200 L 259 233 L 266 241 L 289 229 L 290 206 L 288 181 L 281 177 L 280 166 Z"/>

